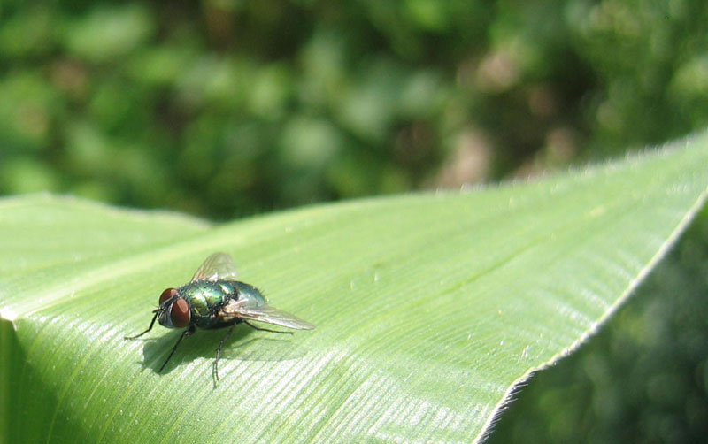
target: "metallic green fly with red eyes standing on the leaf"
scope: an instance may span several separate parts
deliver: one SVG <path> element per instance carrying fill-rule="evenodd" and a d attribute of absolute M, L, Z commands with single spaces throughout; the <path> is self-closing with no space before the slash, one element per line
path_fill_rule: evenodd
<path fill-rule="evenodd" d="M 315 326 L 300 318 L 276 310 L 268 305 L 266 298 L 261 295 L 258 288 L 236 280 L 236 269 L 231 256 L 226 253 L 214 253 L 204 261 L 204 264 L 194 274 L 189 282 L 179 288 L 167 288 L 159 299 L 159 307 L 154 310 L 150 326 L 147 330 L 135 336 L 126 336 L 125 339 L 133 340 L 152 330 L 155 319 L 160 325 L 168 328 L 184 328 L 180 339 L 174 344 L 169 356 L 165 359 L 158 373 L 165 369 L 185 336 L 195 333 L 196 327 L 204 330 L 226 328 L 228 332 L 216 349 L 216 360 L 213 371 L 216 381 L 219 381 L 219 358 L 221 348 L 231 336 L 237 324 L 244 323 L 256 330 L 272 333 L 287 333 L 270 330 L 251 324 L 249 321 L 265 322 L 266 324 L 281 325 L 295 330 L 312 330 Z"/>

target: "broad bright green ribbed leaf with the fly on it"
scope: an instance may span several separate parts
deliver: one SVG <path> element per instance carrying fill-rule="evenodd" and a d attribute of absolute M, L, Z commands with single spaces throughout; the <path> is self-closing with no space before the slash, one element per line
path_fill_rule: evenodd
<path fill-rule="evenodd" d="M 703 205 L 708 135 L 460 193 L 224 226 L 50 195 L 0 201 L 4 442 L 480 440 L 528 375 L 617 310 Z M 235 257 L 281 337 L 140 333 L 165 287 Z M 142 338 L 141 338 L 142 339 Z"/>

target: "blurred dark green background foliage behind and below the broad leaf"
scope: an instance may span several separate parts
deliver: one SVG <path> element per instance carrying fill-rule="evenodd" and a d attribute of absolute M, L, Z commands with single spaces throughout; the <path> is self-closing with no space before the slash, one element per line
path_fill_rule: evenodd
<path fill-rule="evenodd" d="M 4 195 L 226 220 L 526 177 L 708 122 L 701 0 L 10 0 L 0 14 Z M 500 442 L 705 436 L 707 226 L 531 381 Z"/>

